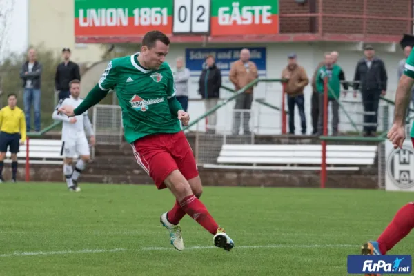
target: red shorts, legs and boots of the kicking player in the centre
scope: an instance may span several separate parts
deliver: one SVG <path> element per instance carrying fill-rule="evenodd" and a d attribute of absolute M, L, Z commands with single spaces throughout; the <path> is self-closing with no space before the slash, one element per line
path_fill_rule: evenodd
<path fill-rule="evenodd" d="M 143 139 L 135 141 L 132 148 L 135 151 L 137 161 L 149 173 L 150 177 L 154 179 L 157 188 L 169 188 L 172 194 L 175 195 L 181 209 L 214 235 L 213 241 L 215 246 L 224 248 L 225 250 L 233 248 L 233 240 L 228 237 L 222 228 L 219 228 L 213 217 L 208 213 L 206 206 L 193 193 L 189 181 L 184 177 L 184 175 L 187 177 L 193 176 L 190 182 L 195 187 L 195 192 L 201 195 L 201 181 L 197 181 L 198 172 L 194 157 L 188 141 L 182 132 L 172 135 L 163 134 L 144 137 Z M 188 149 L 193 158 L 193 170 L 188 170 L 184 166 L 184 164 L 188 165 L 190 162 Z M 180 172 L 176 160 L 182 167 L 184 175 Z M 197 182 L 199 183 L 198 190 Z M 175 214 L 177 217 L 172 220 L 184 217 L 178 206 L 174 207 L 174 209 L 177 211 Z M 179 225 L 174 225 L 168 221 L 166 214 L 161 215 L 161 223 L 170 232 L 171 244 L 178 250 L 184 249 Z"/>

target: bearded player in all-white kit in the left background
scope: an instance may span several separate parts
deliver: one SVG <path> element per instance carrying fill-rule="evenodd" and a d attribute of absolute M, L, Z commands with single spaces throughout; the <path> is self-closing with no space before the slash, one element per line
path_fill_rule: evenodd
<path fill-rule="evenodd" d="M 90 137 L 90 144 L 95 144 L 95 137 L 92 130 L 92 124 L 88 117 L 88 112 L 75 117 L 68 117 L 64 114 L 58 113 L 60 106 L 74 106 L 77 107 L 83 99 L 79 98 L 81 92 L 80 81 L 74 79 L 69 83 L 70 97 L 61 99 L 57 108 L 53 112 L 52 118 L 63 121 L 62 128 L 62 150 L 63 154 L 63 172 L 66 177 L 66 184 L 70 191 L 79 192 L 81 188 L 78 186 L 78 178 L 82 170 L 85 169 L 86 163 L 90 158 L 90 148 L 86 135 Z M 79 156 L 79 160 L 75 164 L 75 169 L 72 168 L 72 160 L 75 155 Z"/>

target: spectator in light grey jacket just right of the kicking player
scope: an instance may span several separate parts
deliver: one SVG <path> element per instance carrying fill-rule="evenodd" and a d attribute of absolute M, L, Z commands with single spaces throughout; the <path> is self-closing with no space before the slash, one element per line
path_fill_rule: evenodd
<path fill-rule="evenodd" d="M 190 70 L 184 67 L 184 61 L 182 57 L 178 57 L 176 61 L 176 70 L 174 71 L 175 81 L 175 97 L 177 101 L 181 103 L 181 106 L 185 112 L 188 108 L 188 79 L 190 79 Z"/>

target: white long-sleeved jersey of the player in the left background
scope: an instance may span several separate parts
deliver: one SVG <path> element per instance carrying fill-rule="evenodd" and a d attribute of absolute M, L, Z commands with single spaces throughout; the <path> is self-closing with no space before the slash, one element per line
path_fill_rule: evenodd
<path fill-rule="evenodd" d="M 70 96 L 69 98 L 60 100 L 57 108 L 66 105 L 77 108 L 77 106 L 79 106 L 82 101 L 83 99 L 74 99 L 72 96 Z M 88 136 L 93 135 L 92 124 L 90 124 L 87 111 L 82 115 L 75 116 L 77 121 L 72 124 L 70 123 L 71 118 L 62 113 L 57 114 L 57 108 L 55 108 L 52 118 L 55 120 L 63 121 L 62 141 L 80 141 L 86 139 L 86 134 L 88 134 Z"/>

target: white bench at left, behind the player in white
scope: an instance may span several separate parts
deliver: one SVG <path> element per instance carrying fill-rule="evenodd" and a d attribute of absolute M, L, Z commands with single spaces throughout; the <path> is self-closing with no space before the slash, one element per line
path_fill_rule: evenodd
<path fill-rule="evenodd" d="M 26 163 L 27 145 L 20 146 L 17 153 L 17 161 Z M 29 140 L 29 162 L 30 164 L 63 165 L 61 155 L 62 141 L 52 139 L 30 139 Z M 6 153 L 5 163 L 10 163 L 10 152 Z M 74 157 L 77 159 L 77 156 Z"/>

